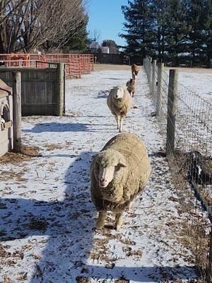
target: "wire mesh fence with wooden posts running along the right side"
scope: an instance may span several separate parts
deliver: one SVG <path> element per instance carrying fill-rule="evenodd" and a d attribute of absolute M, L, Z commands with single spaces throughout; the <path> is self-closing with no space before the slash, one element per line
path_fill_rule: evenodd
<path fill-rule="evenodd" d="M 212 105 L 179 83 L 177 70 L 167 74 L 151 58 L 143 65 L 184 216 L 180 237 L 203 282 L 212 282 Z"/>

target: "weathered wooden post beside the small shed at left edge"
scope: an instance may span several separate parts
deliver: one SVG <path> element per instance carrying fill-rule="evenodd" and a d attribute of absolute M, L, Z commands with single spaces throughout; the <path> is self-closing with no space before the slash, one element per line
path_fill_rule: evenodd
<path fill-rule="evenodd" d="M 21 73 L 13 71 L 13 151 L 21 152 Z"/>

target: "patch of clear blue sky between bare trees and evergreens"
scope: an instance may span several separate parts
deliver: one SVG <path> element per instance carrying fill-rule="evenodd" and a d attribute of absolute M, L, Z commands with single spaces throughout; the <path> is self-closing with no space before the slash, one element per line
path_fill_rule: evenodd
<path fill-rule="evenodd" d="M 122 33 L 124 15 L 121 6 L 127 0 L 88 0 L 88 30 L 100 32 L 102 40 L 114 40 L 117 45 L 125 45 L 125 40 L 118 36 Z"/>

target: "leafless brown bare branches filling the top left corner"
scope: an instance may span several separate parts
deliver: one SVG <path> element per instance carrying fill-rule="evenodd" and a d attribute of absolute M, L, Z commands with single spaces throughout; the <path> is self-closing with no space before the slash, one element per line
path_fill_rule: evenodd
<path fill-rule="evenodd" d="M 65 44 L 67 34 L 87 21 L 83 0 L 1 0 L 0 52 L 31 52 L 48 42 Z"/>

